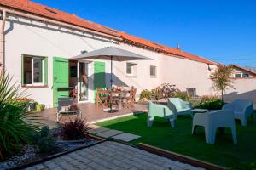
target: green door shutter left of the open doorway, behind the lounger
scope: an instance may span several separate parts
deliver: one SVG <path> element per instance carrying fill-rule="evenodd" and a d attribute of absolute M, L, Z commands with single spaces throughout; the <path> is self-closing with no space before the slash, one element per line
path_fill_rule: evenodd
<path fill-rule="evenodd" d="M 54 57 L 53 76 L 54 105 L 56 107 L 58 106 L 58 98 L 68 97 L 68 91 L 58 90 L 58 88 L 68 87 L 68 59 Z"/>

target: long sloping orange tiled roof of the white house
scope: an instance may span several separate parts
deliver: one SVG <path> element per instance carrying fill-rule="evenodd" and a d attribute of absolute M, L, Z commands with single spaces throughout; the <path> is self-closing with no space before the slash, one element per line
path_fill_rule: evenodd
<path fill-rule="evenodd" d="M 39 3 L 33 3 L 30 0 L 0 0 L 0 4 L 5 7 L 15 8 L 20 11 L 24 11 L 26 13 L 37 14 L 51 20 L 58 20 L 67 24 L 84 27 L 93 31 L 99 31 L 115 37 L 122 37 L 124 42 L 134 43 L 137 46 L 149 48 L 162 54 L 174 54 L 177 55 L 177 57 L 182 57 L 183 59 L 191 59 L 209 65 L 217 65 L 217 63 L 209 59 L 204 59 L 197 55 L 183 52 L 180 49 L 170 48 L 156 42 L 151 42 L 140 37 L 135 37 L 123 31 L 116 31 L 112 28 L 108 28 L 107 26 L 102 26 L 91 22 L 90 20 L 81 19 L 75 14 L 67 14 L 55 8 L 49 8 Z"/>

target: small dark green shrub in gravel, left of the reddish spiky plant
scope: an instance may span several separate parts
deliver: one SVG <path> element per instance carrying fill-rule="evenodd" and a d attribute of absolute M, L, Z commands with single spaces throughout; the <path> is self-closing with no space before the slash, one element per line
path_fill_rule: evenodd
<path fill-rule="evenodd" d="M 55 149 L 55 138 L 49 133 L 49 127 L 42 127 L 37 133 L 30 134 L 33 144 L 38 145 L 40 152 L 46 153 Z"/>

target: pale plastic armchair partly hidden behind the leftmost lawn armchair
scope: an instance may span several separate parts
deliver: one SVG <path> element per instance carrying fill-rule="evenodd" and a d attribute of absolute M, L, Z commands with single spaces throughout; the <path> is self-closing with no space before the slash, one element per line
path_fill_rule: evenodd
<path fill-rule="evenodd" d="M 183 99 L 169 98 L 168 106 L 174 112 L 175 118 L 177 118 L 178 115 L 190 115 L 193 117 L 190 103 Z"/>

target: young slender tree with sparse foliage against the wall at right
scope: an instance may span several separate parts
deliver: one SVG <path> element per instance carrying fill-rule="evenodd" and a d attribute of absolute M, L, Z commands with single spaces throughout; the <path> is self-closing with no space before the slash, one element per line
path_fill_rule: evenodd
<path fill-rule="evenodd" d="M 213 82 L 212 88 L 221 92 L 221 100 L 223 94 L 228 88 L 234 88 L 231 74 L 233 72 L 232 65 L 218 65 L 217 70 L 211 74 Z"/>

